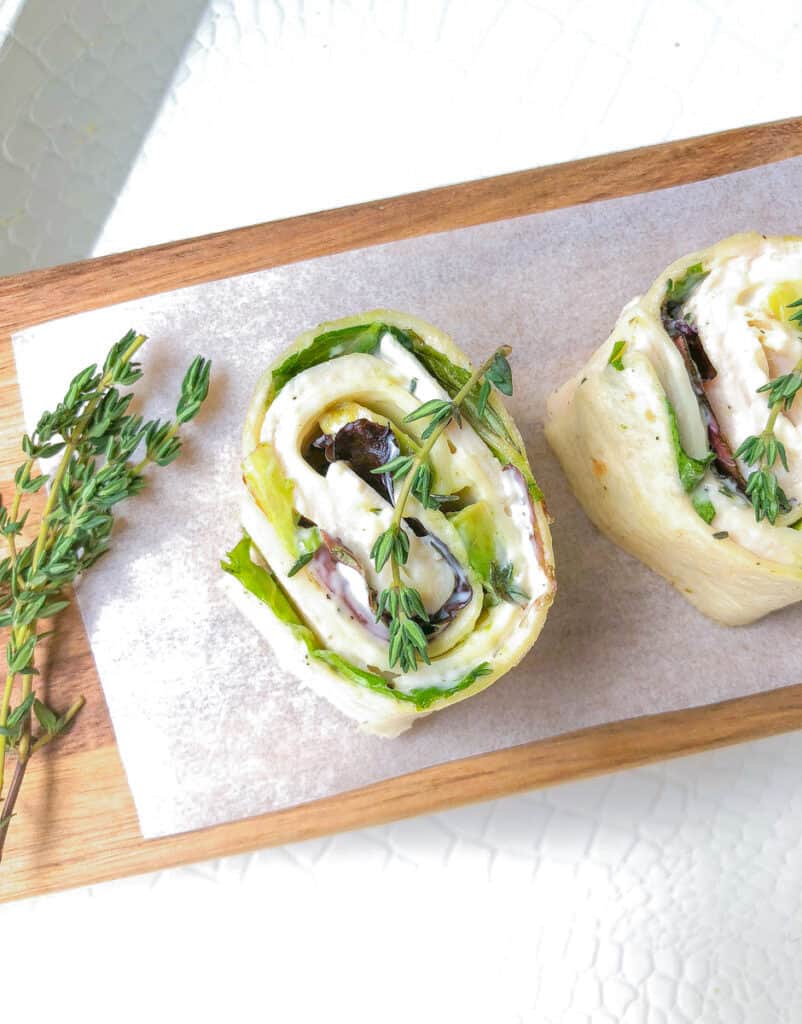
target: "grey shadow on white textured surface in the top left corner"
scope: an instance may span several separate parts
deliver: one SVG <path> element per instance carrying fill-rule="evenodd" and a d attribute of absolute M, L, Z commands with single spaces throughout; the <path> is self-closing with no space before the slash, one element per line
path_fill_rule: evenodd
<path fill-rule="evenodd" d="M 26 0 L 0 49 L 0 274 L 91 255 L 208 0 Z"/>

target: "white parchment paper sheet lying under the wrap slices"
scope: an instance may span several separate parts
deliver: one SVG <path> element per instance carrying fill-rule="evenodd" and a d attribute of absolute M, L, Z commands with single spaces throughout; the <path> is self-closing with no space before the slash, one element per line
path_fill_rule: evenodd
<path fill-rule="evenodd" d="M 549 391 L 672 260 L 738 230 L 802 232 L 802 159 L 709 182 L 311 260 L 67 317 L 16 336 L 29 429 L 129 327 L 167 415 L 197 352 L 210 398 L 180 460 L 122 507 L 78 600 L 145 837 L 303 803 L 584 726 L 799 681 L 802 605 L 726 630 L 600 537 L 547 449 Z M 558 593 L 535 649 L 486 693 L 395 740 L 277 670 L 229 604 L 242 419 L 265 364 L 325 319 L 389 306 L 471 356 L 514 346 L 512 412 L 556 518 Z"/>

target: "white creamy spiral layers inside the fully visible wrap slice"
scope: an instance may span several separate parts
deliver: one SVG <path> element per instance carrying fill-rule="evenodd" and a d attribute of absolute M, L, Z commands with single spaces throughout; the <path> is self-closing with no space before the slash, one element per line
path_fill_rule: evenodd
<path fill-rule="evenodd" d="M 412 380 L 416 381 L 414 394 L 410 391 Z M 293 482 L 295 508 L 356 557 L 376 592 L 391 583 L 389 566 L 377 573 L 370 553 L 390 524 L 392 506 L 346 462 L 332 463 L 322 476 L 306 461 L 306 445 L 319 431 L 325 410 L 345 401 L 388 418 L 419 440 L 426 421 L 404 424 L 404 418 L 429 398 L 448 397 L 417 358 L 387 333 L 375 355 L 341 355 L 294 377 L 264 415 L 260 439 L 270 444 L 284 474 Z M 245 529 L 321 642 L 353 664 L 392 678 L 404 692 L 428 686 L 446 689 L 477 665 L 493 662 L 500 651 L 514 647 L 517 631 L 531 629 L 533 605 L 550 589 L 538 557 L 529 494 L 517 473 L 503 469 L 464 419 L 461 426 L 452 423 L 436 442 L 432 464 L 435 479 L 445 477 L 451 490 L 465 489 L 472 500 L 487 500 L 499 509 L 497 534 L 507 560 L 515 566 L 516 584 L 530 601 L 523 607 L 502 602 L 482 612 L 482 589 L 469 572 L 473 593 L 468 604 L 432 641 L 432 664 L 420 664 L 412 673 L 388 672 L 386 641 L 366 629 L 343 602 L 327 595 L 312 573 L 300 571 L 288 578 L 293 558 L 253 499 L 247 496 L 243 504 Z M 462 540 L 441 512 L 424 509 L 411 498 L 406 515 L 419 519 L 467 566 Z M 451 595 L 454 572 L 424 539 L 415 537 L 410 528 L 407 532 L 410 555 L 402 569 L 403 579 L 419 591 L 427 611 L 432 612 Z M 367 591 L 358 591 L 356 585 L 354 597 L 364 601 Z"/>

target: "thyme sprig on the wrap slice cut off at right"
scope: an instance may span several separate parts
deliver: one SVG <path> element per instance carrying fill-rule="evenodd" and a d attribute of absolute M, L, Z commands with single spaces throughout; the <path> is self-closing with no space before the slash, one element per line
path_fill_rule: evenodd
<path fill-rule="evenodd" d="M 797 300 L 792 306 L 802 305 Z M 802 310 L 792 319 L 799 321 Z M 736 459 L 743 459 L 749 466 L 756 467 L 747 478 L 747 497 L 755 510 L 755 519 L 768 519 L 773 526 L 777 516 L 791 511 L 791 502 L 779 485 L 773 467 L 777 460 L 788 471 L 788 456 L 783 441 L 774 434 L 780 412 L 791 409 L 800 388 L 802 388 L 802 359 L 791 373 L 783 374 L 758 388 L 758 393 L 767 395 L 770 410 L 768 420 L 759 434 L 752 434 L 735 452 Z"/>

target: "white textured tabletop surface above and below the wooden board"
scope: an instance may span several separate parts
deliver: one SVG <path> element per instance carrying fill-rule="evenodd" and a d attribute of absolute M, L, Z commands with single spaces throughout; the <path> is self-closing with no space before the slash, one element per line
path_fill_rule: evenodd
<path fill-rule="evenodd" d="M 0 0 L 0 273 L 799 114 L 801 15 Z M 4 992 L 30 1021 L 796 1024 L 801 776 L 792 734 L 6 906 Z"/>

